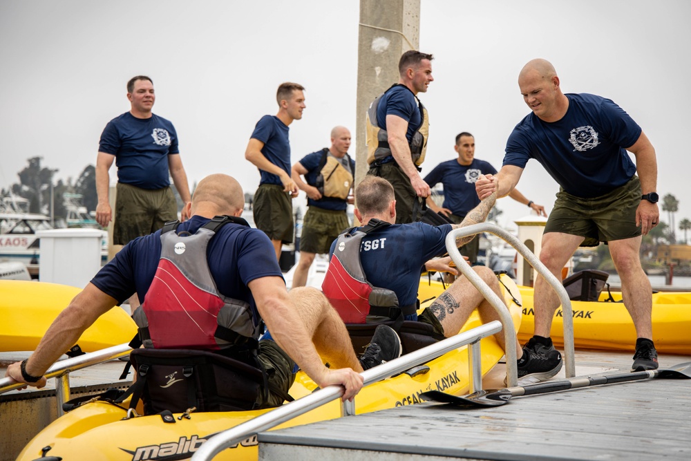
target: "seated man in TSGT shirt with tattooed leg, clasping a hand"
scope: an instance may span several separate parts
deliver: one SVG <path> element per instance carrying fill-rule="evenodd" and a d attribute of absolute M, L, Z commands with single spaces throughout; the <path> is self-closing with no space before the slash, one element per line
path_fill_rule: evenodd
<path fill-rule="evenodd" d="M 359 263 L 362 267 L 366 282 L 376 288 L 390 290 L 395 293 L 397 305 L 402 306 L 406 320 L 416 320 L 429 323 L 439 337 L 457 335 L 471 312 L 477 308 L 482 321 L 489 322 L 499 319 L 498 314 L 486 301 L 482 294 L 473 287 L 465 277 L 460 277 L 446 291 L 435 299 L 422 314 L 417 316 L 417 288 L 422 270 L 445 271 L 457 274 L 457 270 L 449 267 L 450 258 L 434 258 L 446 252 L 445 240 L 451 230 L 468 225 L 482 223 L 494 206 L 496 196 L 489 196 L 477 207 L 468 212 L 462 223 L 457 225 L 431 226 L 425 223 L 388 224 L 396 220 L 396 200 L 393 187 L 383 178 L 366 176 L 355 189 L 355 216 L 362 227 L 349 229 L 350 235 L 357 230 L 376 225 L 377 228 L 362 237 L 359 245 Z M 457 246 L 471 241 L 473 236 L 457 238 Z M 357 299 L 343 299 L 340 293 L 346 292 L 343 272 L 337 267 L 359 267 L 348 265 L 348 242 L 355 241 L 341 234 L 331 247 L 332 260 L 329 272 L 322 286 L 324 293 L 334 307 L 341 312 L 341 306 L 357 305 Z M 335 261 L 339 259 L 339 261 Z M 352 259 L 352 258 L 351 258 Z M 485 266 L 475 266 L 473 270 L 489 287 L 503 299 L 497 276 Z M 347 271 L 346 271 L 347 272 Z M 350 276 L 354 274 L 349 274 Z M 357 279 L 357 276 L 354 277 Z M 381 300 L 381 294 L 378 294 Z M 339 299 L 341 298 L 341 299 Z M 346 297 L 347 298 L 347 297 Z M 370 301 L 372 297 L 369 298 Z M 372 306 L 367 305 L 372 313 Z M 357 313 L 357 312 L 356 312 Z M 379 315 L 379 314 L 377 314 Z M 348 318 L 348 312 L 341 314 Z M 347 321 L 352 321 L 347 320 Z M 365 321 L 364 316 L 361 321 Z M 502 348 L 505 348 L 504 335 L 495 335 Z M 518 357 L 518 378 L 522 384 L 549 379 L 558 373 L 562 367 L 560 355 L 543 355 L 533 350 L 521 349 L 516 340 Z"/>

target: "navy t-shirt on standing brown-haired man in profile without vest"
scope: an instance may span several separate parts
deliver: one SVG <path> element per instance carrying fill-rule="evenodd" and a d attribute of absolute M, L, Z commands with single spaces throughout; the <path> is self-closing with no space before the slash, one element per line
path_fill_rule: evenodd
<path fill-rule="evenodd" d="M 272 162 L 276 167 L 281 168 L 290 176 L 290 142 L 288 141 L 288 133 L 290 128 L 281 122 L 276 115 L 264 115 L 259 119 L 252 136 L 250 138 L 256 139 L 264 143 L 261 153 L 269 162 Z M 278 178 L 273 173 L 260 169 L 261 180 L 259 184 L 276 184 L 283 185 L 281 178 Z"/>

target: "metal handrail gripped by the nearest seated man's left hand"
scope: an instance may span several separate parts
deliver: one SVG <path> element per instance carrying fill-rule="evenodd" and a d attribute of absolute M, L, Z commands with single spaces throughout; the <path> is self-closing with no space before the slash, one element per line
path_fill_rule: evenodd
<path fill-rule="evenodd" d="M 120 344 L 112 346 L 96 352 L 88 352 L 88 354 L 78 355 L 70 359 L 64 359 L 55 362 L 53 366 L 48 368 L 46 378 L 55 378 L 55 396 L 57 398 L 57 415 L 62 416 L 62 404 L 70 399 L 70 371 L 80 370 L 87 366 L 101 364 L 104 361 L 117 359 L 129 355 L 132 348 L 129 344 Z M 26 386 L 23 383 L 13 382 L 10 378 L 0 379 L 0 394 L 12 391 L 13 389 Z"/>

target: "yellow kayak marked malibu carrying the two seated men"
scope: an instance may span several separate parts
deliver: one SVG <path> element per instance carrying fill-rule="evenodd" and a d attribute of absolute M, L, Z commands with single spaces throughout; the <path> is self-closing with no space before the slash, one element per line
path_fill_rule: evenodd
<path fill-rule="evenodd" d="M 508 283 L 513 284 L 510 279 Z M 421 299 L 425 299 L 424 295 L 421 295 Z M 509 297 L 509 301 L 510 299 Z M 511 303 L 510 311 L 515 323 L 519 324 L 520 307 Z M 474 312 L 463 330 L 476 326 L 480 326 L 480 319 L 477 312 Z M 485 375 L 497 364 L 504 351 L 493 337 L 482 339 L 481 344 L 482 374 Z M 433 389 L 457 395 L 467 393 L 469 377 L 466 346 L 452 350 L 426 365 L 429 367 L 427 373 L 401 373 L 363 388 L 355 399 L 356 413 L 417 404 L 421 402 L 421 393 Z M 290 395 L 297 399 L 315 388 L 314 382 L 299 372 L 295 384 L 290 388 Z M 51 447 L 46 456 L 61 457 L 64 460 L 186 460 L 211 435 L 267 411 L 269 410 L 192 413 L 189 420 L 178 420 L 178 415 L 175 415 L 175 422 L 171 424 L 164 423 L 160 415 L 122 420 L 126 416 L 125 408 L 106 402 L 91 402 L 47 426 L 29 442 L 17 460 L 35 460 L 41 456 L 41 449 L 45 446 Z M 340 402 L 331 402 L 285 422 L 278 428 L 330 420 L 340 415 Z M 214 460 L 256 460 L 257 455 L 256 438 L 249 438 L 234 448 L 223 451 Z"/>

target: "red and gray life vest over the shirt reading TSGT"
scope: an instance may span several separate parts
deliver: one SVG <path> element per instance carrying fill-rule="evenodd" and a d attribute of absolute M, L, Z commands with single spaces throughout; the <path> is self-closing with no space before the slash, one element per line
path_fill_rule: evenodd
<path fill-rule="evenodd" d="M 339 235 L 321 290 L 345 323 L 366 323 L 368 315 L 402 320 L 404 315 L 415 314 L 417 310 L 417 303 L 401 307 L 395 292 L 373 286 L 362 270 L 363 237 L 389 225 L 372 219 L 354 234 L 350 234 L 351 227 Z"/>

